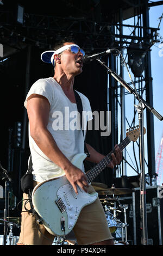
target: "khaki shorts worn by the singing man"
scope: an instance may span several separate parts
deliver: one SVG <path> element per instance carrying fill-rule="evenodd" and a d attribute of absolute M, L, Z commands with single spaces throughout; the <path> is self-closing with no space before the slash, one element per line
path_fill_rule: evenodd
<path fill-rule="evenodd" d="M 36 182 L 34 185 L 36 185 Z M 90 186 L 88 192 L 92 193 L 93 191 L 95 191 L 94 188 Z M 28 195 L 24 193 L 23 199 L 28 199 Z M 23 245 L 52 245 L 54 236 L 49 234 L 43 225 L 39 225 L 41 232 L 39 231 L 35 217 L 24 210 L 24 202 L 26 200 L 23 201 L 21 233 L 18 243 Z M 30 209 L 29 203 L 26 204 L 26 208 Z M 73 232 L 78 245 L 90 245 L 91 243 L 113 239 L 99 198 L 82 209 Z"/>

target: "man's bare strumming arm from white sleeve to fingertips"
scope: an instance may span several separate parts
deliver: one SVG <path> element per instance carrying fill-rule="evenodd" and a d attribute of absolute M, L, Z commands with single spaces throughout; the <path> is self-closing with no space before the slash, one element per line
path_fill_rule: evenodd
<path fill-rule="evenodd" d="M 47 129 L 49 109 L 50 105 L 46 97 L 37 94 L 30 95 L 27 101 L 30 136 L 42 152 L 64 170 L 66 178 L 76 193 L 77 185 L 86 191 L 85 186 L 88 186 L 86 175 L 62 154 L 52 134 Z"/>

